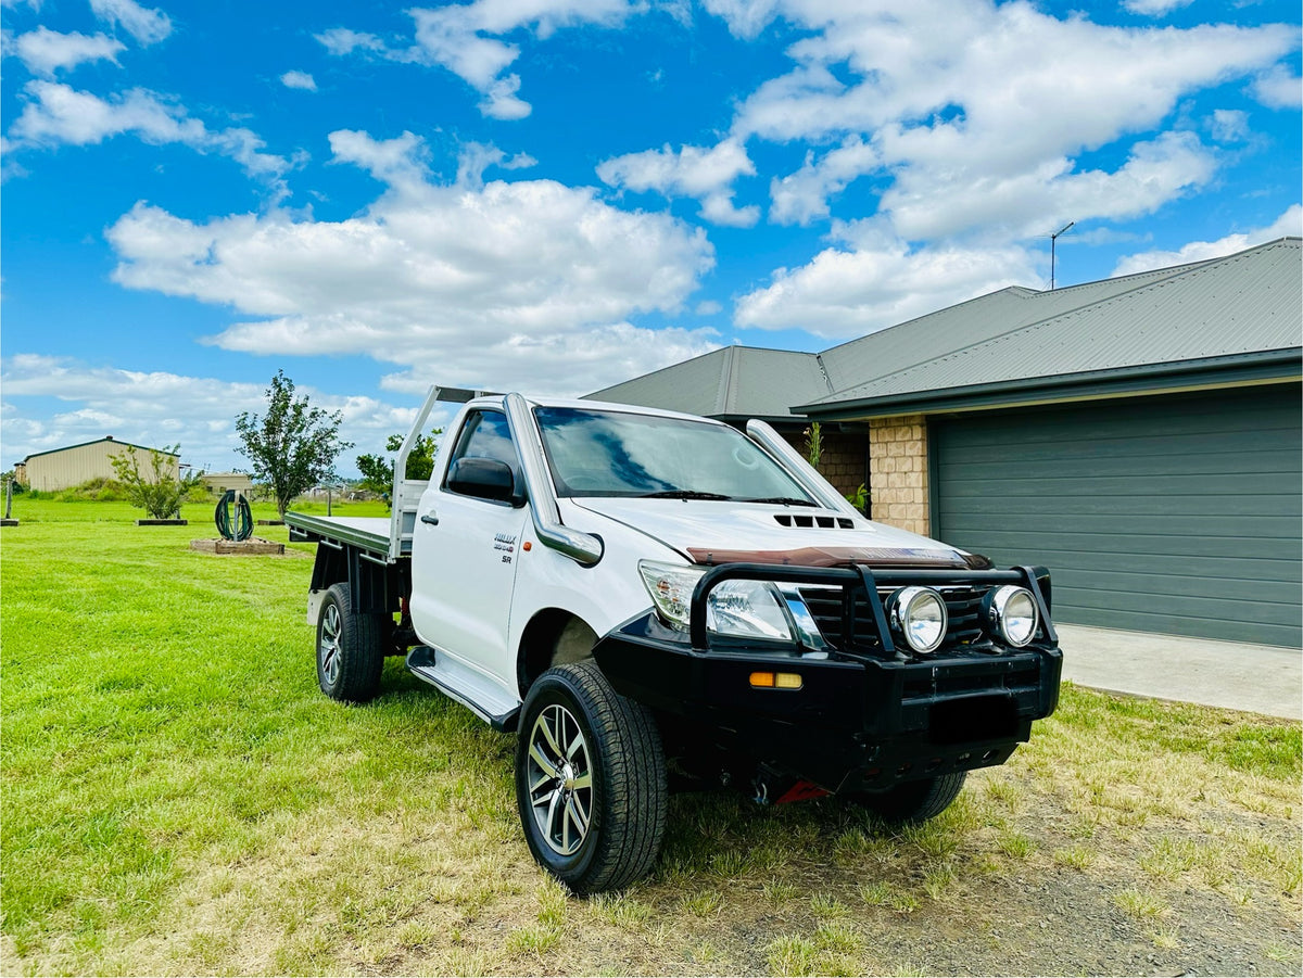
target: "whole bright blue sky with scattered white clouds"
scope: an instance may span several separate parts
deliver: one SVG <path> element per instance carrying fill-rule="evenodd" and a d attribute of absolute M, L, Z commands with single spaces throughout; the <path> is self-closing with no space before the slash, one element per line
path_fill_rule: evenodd
<path fill-rule="evenodd" d="M 3 0 L 0 452 L 356 449 L 1300 233 L 1296 3 Z"/>

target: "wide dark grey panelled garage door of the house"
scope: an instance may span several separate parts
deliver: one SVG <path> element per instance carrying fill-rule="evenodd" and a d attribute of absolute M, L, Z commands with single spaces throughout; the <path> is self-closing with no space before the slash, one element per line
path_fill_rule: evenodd
<path fill-rule="evenodd" d="M 936 535 L 1059 621 L 1298 649 L 1300 428 L 1296 384 L 937 418 Z"/>

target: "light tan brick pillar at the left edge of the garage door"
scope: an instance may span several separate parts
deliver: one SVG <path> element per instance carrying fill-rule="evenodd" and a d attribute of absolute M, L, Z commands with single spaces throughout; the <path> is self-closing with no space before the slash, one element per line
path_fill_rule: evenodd
<path fill-rule="evenodd" d="M 869 422 L 869 473 L 873 518 L 929 535 L 928 425 L 921 414 Z"/>

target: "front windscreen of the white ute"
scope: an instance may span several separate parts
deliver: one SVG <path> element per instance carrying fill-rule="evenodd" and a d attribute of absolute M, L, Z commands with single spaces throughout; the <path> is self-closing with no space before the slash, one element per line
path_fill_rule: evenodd
<path fill-rule="evenodd" d="M 739 431 L 649 414 L 534 410 L 559 496 L 683 496 L 813 505 Z"/>

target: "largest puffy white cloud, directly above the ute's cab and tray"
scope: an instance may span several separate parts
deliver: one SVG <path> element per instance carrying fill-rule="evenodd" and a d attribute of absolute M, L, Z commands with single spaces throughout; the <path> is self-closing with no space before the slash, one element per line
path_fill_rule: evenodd
<path fill-rule="evenodd" d="M 414 137 L 331 137 L 388 184 L 364 214 L 274 210 L 193 223 L 137 204 L 108 232 L 113 279 L 249 316 L 211 342 L 369 356 L 459 385 L 582 393 L 714 344 L 629 326 L 680 310 L 714 263 L 701 231 L 549 180 L 434 185 Z"/>

